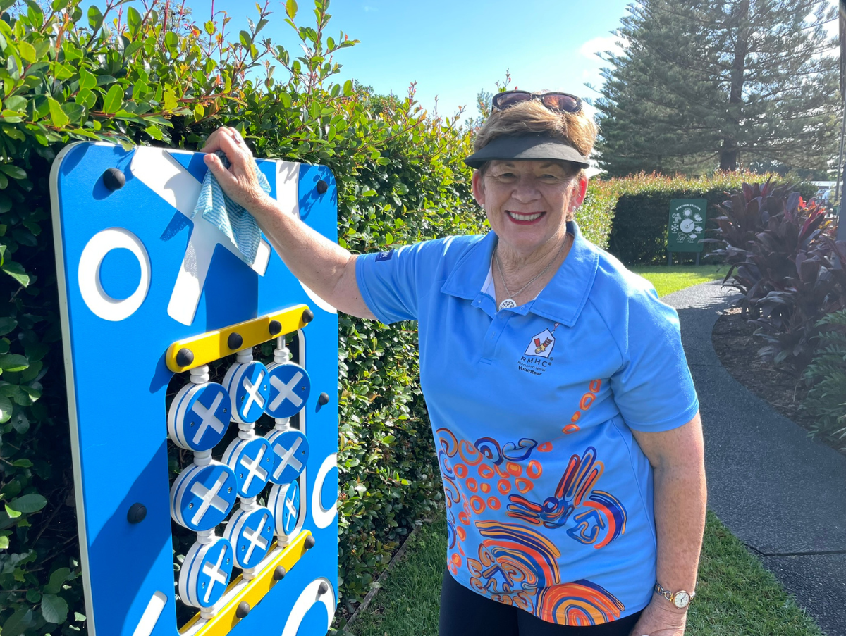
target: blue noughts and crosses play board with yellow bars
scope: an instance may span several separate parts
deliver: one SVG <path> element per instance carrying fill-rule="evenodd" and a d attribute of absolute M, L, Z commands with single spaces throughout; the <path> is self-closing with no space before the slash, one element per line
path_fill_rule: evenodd
<path fill-rule="evenodd" d="M 285 213 L 337 240 L 327 167 L 257 163 Z M 201 153 L 99 142 L 52 166 L 88 632 L 322 636 L 338 588 L 338 315 L 265 237 L 250 263 L 194 216 L 205 176 Z M 181 562 L 173 528 L 191 540 Z"/>

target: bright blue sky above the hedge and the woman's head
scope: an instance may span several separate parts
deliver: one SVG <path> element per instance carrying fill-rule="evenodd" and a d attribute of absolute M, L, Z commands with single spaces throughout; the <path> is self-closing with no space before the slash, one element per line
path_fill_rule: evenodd
<path fill-rule="evenodd" d="M 452 114 L 460 106 L 475 117 L 475 96 L 495 90 L 511 72 L 512 87 L 566 90 L 596 96 L 585 87 L 601 84 L 596 51 L 613 44 L 630 0 L 333 0 L 328 35 L 343 30 L 355 47 L 339 52 L 342 79 L 354 78 L 381 93 L 404 95 L 417 82 L 417 99 L 427 110 Z M 208 19 L 211 0 L 189 0 L 198 21 Z M 299 0 L 299 25 L 311 25 L 310 0 Z M 237 33 L 255 19 L 254 2 L 216 0 L 215 11 L 232 16 Z M 270 23 L 261 35 L 295 52 L 293 31 L 283 22 L 283 3 L 271 3 Z M 277 69 L 277 73 L 278 70 Z"/>

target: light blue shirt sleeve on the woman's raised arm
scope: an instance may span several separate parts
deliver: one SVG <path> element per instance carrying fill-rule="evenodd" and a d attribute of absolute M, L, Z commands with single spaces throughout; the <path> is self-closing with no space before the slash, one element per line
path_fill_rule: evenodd
<path fill-rule="evenodd" d="M 426 243 L 355 258 L 355 280 L 361 298 L 386 325 L 417 320 L 420 261 Z"/>

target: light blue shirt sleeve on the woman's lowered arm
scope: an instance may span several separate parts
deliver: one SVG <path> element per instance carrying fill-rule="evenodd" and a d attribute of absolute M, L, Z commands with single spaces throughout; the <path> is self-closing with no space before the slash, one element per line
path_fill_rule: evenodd
<path fill-rule="evenodd" d="M 699 410 L 699 399 L 676 310 L 649 285 L 632 293 L 627 314 L 624 363 L 611 377 L 620 414 L 630 428 L 647 432 L 687 424 Z"/>

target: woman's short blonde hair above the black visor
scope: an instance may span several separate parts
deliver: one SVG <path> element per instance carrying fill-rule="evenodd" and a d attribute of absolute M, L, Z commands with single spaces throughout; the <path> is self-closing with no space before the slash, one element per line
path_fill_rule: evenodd
<path fill-rule="evenodd" d="M 547 133 L 566 141 L 586 157 L 593 150 L 598 132 L 596 123 L 584 108 L 580 112 L 559 112 L 550 110 L 539 100 L 523 101 L 504 111 L 493 111 L 476 133 L 473 150 L 480 151 L 497 137 Z M 481 167 L 482 173 L 486 167 L 487 164 Z M 578 173 L 584 173 L 584 170 Z"/>

